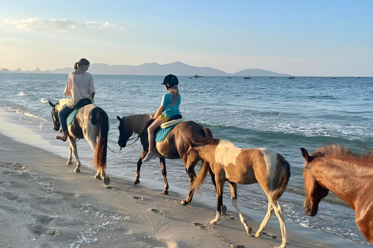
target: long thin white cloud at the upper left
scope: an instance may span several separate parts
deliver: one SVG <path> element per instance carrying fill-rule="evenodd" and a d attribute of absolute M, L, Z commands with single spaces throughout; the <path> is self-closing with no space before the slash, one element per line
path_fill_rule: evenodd
<path fill-rule="evenodd" d="M 13 26 L 19 30 L 50 30 L 57 32 L 68 32 L 70 30 L 82 30 L 82 29 L 116 29 L 122 30 L 122 27 L 118 27 L 116 24 L 112 24 L 105 21 L 88 21 L 81 22 L 77 20 L 69 19 L 43 19 L 43 18 L 28 18 L 28 19 L 0 19 L 2 26 Z"/>

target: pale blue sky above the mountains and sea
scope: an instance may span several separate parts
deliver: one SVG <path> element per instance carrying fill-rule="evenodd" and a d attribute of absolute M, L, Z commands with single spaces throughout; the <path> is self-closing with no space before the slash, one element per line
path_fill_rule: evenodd
<path fill-rule="evenodd" d="M 0 68 L 180 61 L 373 76 L 373 0 L 0 0 Z"/>

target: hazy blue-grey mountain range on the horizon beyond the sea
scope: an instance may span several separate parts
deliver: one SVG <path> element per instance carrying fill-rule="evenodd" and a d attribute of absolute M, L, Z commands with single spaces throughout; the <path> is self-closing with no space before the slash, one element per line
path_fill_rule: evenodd
<path fill-rule="evenodd" d="M 73 68 L 58 68 L 50 73 L 68 74 L 73 71 Z M 187 65 L 182 62 L 173 62 L 169 64 L 145 63 L 140 65 L 108 65 L 105 63 L 95 63 L 89 66 L 89 72 L 92 74 L 104 75 L 168 75 L 176 76 L 276 76 L 288 77 L 288 74 L 280 74 L 276 72 L 266 71 L 262 69 L 246 69 L 234 74 L 229 74 L 218 69 L 210 67 L 197 67 Z"/>

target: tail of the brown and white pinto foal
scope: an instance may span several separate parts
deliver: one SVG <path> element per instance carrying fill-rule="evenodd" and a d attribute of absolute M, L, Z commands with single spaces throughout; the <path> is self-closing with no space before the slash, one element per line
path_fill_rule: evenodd
<path fill-rule="evenodd" d="M 280 170 L 278 167 L 280 167 Z M 282 155 L 277 154 L 276 168 L 279 173 L 277 174 L 276 184 L 270 193 L 273 201 L 277 201 L 282 196 L 290 178 L 290 165 Z"/>

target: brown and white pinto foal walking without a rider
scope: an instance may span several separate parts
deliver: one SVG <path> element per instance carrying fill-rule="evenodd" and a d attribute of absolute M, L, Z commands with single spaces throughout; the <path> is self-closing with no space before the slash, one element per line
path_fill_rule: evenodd
<path fill-rule="evenodd" d="M 232 194 L 232 203 L 236 208 L 241 223 L 245 226 L 246 232 L 251 233 L 252 228 L 247 225 L 245 218 L 241 215 L 237 205 L 237 184 L 259 183 L 268 197 L 268 212 L 256 232 L 255 237 L 262 235 L 271 213 L 274 210 L 282 234 L 282 244 L 280 248 L 285 248 L 288 244 L 285 219 L 281 205 L 277 201 L 284 193 L 290 177 L 290 165 L 279 154 L 270 149 L 242 149 L 234 146 L 226 140 L 210 140 L 203 143 L 193 143 L 189 140 L 189 149 L 186 153 L 187 165 L 196 157 L 201 157 L 207 163 L 202 164 L 192 184 L 192 190 L 203 185 L 208 167 L 215 174 L 217 214 L 210 224 L 216 224 L 220 220 L 220 209 L 222 205 L 222 193 L 224 182 L 229 182 Z"/>

